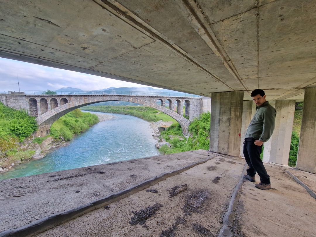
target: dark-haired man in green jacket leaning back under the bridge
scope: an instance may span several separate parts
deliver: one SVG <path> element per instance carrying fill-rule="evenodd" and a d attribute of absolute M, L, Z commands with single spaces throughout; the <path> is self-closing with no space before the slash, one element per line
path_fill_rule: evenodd
<path fill-rule="evenodd" d="M 262 145 L 268 141 L 272 135 L 275 124 L 276 110 L 265 100 L 264 91 L 255 89 L 251 93 L 254 103 L 256 103 L 257 111 L 253 116 L 245 136 L 244 156 L 249 166 L 245 179 L 256 182 L 256 172 L 260 176 L 260 183 L 255 185 L 257 188 L 266 190 L 271 189 L 270 176 L 264 168 L 260 159 Z"/>

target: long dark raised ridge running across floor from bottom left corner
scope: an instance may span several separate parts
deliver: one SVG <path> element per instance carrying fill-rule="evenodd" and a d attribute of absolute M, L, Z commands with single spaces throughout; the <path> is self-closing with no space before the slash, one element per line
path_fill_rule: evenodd
<path fill-rule="evenodd" d="M 97 199 L 91 203 L 79 206 L 74 209 L 70 209 L 64 212 L 55 213 L 51 216 L 44 217 L 40 220 L 31 222 L 27 225 L 24 225 L 22 227 L 11 229 L 11 230 L 5 230 L 0 233 L 0 237 L 28 237 L 33 236 L 35 234 L 42 233 L 48 229 L 51 229 L 55 226 L 58 226 L 64 222 L 67 222 L 71 219 L 74 219 L 78 216 L 81 216 L 85 213 L 88 213 L 90 211 L 93 211 L 95 209 L 101 208 L 103 206 L 109 205 L 117 200 L 120 200 L 122 198 L 128 197 L 131 194 L 134 194 L 138 191 L 141 191 L 145 188 L 150 187 L 151 185 L 154 185 L 164 179 L 167 179 L 168 177 L 174 176 L 176 174 L 182 173 L 194 166 L 203 164 L 213 158 L 215 158 L 217 155 L 212 155 L 210 158 L 203 159 L 201 161 L 195 162 L 189 166 L 186 166 L 182 169 L 175 170 L 168 173 L 163 173 L 159 176 L 156 176 L 152 179 L 148 179 L 138 185 L 135 185 L 129 189 L 125 189 L 123 191 L 120 191 L 115 194 L 108 195 L 106 197 Z"/>

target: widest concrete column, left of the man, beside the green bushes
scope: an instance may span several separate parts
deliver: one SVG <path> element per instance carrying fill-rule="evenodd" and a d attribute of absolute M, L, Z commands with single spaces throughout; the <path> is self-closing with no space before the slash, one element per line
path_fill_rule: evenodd
<path fill-rule="evenodd" d="M 243 91 L 212 93 L 210 151 L 240 155 Z"/>

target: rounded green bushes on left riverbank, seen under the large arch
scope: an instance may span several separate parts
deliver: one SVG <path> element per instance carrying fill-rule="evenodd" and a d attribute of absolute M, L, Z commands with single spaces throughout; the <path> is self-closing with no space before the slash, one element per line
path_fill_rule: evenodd
<path fill-rule="evenodd" d="M 71 140 L 75 135 L 99 122 L 98 116 L 75 109 L 52 124 L 51 135 L 55 139 Z"/>

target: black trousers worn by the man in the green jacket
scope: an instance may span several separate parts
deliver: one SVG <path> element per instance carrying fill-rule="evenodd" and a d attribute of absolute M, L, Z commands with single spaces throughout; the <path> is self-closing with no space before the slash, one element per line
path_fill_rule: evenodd
<path fill-rule="evenodd" d="M 270 184 L 270 176 L 264 168 L 263 162 L 260 159 L 260 154 L 262 152 L 262 146 L 257 146 L 254 144 L 254 138 L 245 138 L 244 142 L 244 156 L 249 166 L 247 169 L 247 174 L 250 176 L 255 176 L 256 172 L 260 176 L 260 181 L 265 184 Z"/>

